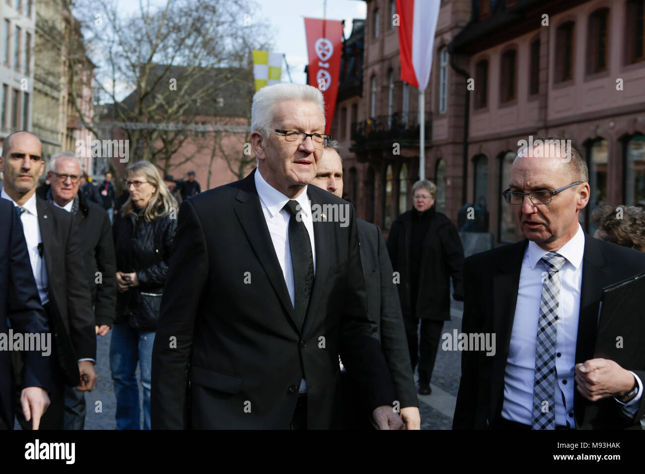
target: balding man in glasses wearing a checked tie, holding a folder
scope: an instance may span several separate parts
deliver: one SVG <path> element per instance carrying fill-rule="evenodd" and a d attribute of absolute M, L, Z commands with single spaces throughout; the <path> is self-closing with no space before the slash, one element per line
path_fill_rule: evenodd
<path fill-rule="evenodd" d="M 548 141 L 559 146 L 537 148 Z M 602 289 L 642 273 L 645 255 L 582 231 L 588 181 L 563 137 L 513 161 L 502 194 L 526 239 L 466 259 L 462 333 L 494 334 L 496 348 L 462 352 L 454 429 L 640 429 L 645 367 L 594 347 Z"/>

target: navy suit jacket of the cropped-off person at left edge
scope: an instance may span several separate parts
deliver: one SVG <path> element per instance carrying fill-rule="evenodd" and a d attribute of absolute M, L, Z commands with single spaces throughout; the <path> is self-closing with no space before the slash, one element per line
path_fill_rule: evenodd
<path fill-rule="evenodd" d="M 0 333 L 48 333 L 47 317 L 34 281 L 25 235 L 14 204 L 0 199 Z M 9 341 L 11 343 L 11 341 Z M 0 417 L 14 428 L 13 367 L 10 352 L 0 351 Z M 50 359 L 42 351 L 23 351 L 22 386 L 49 390 Z"/>

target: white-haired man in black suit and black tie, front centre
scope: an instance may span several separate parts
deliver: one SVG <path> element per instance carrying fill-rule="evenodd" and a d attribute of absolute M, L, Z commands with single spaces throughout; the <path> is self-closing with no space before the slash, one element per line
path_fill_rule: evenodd
<path fill-rule="evenodd" d="M 323 95 L 266 86 L 251 115 L 258 167 L 179 210 L 152 356 L 152 428 L 337 428 L 341 355 L 375 426 L 402 429 L 353 208 L 349 225 L 326 219 L 321 206 L 346 201 L 308 186 L 330 139 Z"/>

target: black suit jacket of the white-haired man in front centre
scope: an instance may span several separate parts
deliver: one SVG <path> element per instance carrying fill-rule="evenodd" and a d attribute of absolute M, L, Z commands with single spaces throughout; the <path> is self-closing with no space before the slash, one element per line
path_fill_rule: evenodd
<path fill-rule="evenodd" d="M 181 204 L 152 355 L 153 428 L 288 429 L 303 377 L 308 428 L 333 428 L 339 354 L 368 406 L 395 400 L 367 315 L 352 206 L 307 187 L 312 206 L 348 205 L 351 215 L 346 227 L 313 222 L 315 279 L 301 328 L 255 172 Z"/>

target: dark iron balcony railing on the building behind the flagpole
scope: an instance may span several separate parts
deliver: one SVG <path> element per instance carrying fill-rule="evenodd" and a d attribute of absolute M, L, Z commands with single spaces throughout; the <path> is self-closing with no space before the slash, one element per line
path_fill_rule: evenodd
<path fill-rule="evenodd" d="M 426 112 L 424 129 L 426 143 L 432 137 L 432 113 Z M 419 146 L 419 114 L 412 112 L 392 115 L 379 115 L 362 122 L 352 123 L 352 149 L 374 150 L 383 146 L 391 147 L 393 143 L 401 146 Z"/>

